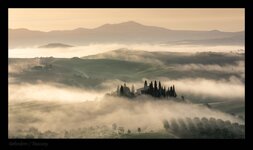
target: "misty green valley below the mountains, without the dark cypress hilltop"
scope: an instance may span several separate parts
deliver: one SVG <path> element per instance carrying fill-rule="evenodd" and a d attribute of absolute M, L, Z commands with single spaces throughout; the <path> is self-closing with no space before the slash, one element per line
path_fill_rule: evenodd
<path fill-rule="evenodd" d="M 152 48 L 9 58 L 9 138 L 245 137 L 244 51 Z M 107 94 L 145 80 L 177 97 Z"/>

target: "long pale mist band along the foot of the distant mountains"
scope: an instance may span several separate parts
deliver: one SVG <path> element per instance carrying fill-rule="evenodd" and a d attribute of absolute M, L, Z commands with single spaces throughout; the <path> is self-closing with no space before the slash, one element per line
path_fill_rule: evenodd
<path fill-rule="evenodd" d="M 115 49 L 127 48 L 145 51 L 169 51 L 169 52 L 230 52 L 244 49 L 243 46 L 200 46 L 200 45 L 157 45 L 157 44 L 90 44 L 72 48 L 15 48 L 9 49 L 10 58 L 33 58 L 33 57 L 82 57 L 108 52 Z"/>

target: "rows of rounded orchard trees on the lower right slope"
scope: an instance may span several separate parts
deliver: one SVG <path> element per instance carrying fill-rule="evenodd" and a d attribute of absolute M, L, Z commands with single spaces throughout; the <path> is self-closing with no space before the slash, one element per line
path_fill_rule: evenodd
<path fill-rule="evenodd" d="M 183 138 L 203 139 L 242 139 L 245 138 L 245 125 L 215 118 L 172 118 L 163 121 L 166 131 Z"/>

